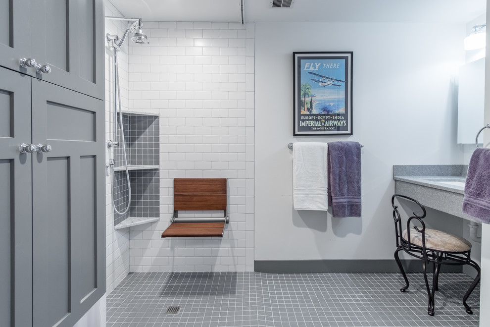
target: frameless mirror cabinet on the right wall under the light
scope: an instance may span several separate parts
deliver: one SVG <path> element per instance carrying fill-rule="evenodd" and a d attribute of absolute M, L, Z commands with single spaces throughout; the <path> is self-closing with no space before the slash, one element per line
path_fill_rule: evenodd
<path fill-rule="evenodd" d="M 475 144 L 476 134 L 484 125 L 484 100 L 485 58 L 481 58 L 459 68 L 459 144 Z M 483 143 L 483 133 L 480 133 L 478 143 Z"/>

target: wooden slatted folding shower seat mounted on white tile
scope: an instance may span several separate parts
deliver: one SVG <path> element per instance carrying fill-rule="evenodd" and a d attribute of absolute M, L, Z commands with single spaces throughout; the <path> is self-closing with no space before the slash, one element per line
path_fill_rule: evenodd
<path fill-rule="evenodd" d="M 223 237 L 226 213 L 226 178 L 174 178 L 174 215 L 162 237 Z M 179 211 L 223 211 L 221 217 L 179 217 Z"/>

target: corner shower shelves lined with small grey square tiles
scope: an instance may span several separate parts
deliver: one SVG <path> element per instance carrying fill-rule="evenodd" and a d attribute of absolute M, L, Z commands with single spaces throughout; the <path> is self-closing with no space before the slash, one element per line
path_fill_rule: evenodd
<path fill-rule="evenodd" d="M 114 148 L 114 193 L 116 209 L 124 212 L 131 202 L 129 211 L 123 215 L 114 212 L 114 228 L 120 229 L 142 223 L 158 221 L 160 218 L 160 140 L 159 117 L 141 112 L 117 113 L 117 141 Z M 131 186 L 129 199 L 128 178 L 119 119 L 124 129 L 126 158 Z"/>

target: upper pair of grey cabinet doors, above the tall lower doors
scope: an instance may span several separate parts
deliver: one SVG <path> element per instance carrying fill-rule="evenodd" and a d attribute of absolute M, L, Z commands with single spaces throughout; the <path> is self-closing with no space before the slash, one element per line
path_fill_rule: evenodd
<path fill-rule="evenodd" d="M 0 66 L 103 99 L 102 24 L 102 0 L 0 0 Z"/>

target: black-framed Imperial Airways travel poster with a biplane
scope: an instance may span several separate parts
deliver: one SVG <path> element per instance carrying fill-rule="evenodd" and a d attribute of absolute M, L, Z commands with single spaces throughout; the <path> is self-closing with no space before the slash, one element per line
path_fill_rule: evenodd
<path fill-rule="evenodd" d="M 352 135 L 352 52 L 294 52 L 293 135 Z"/>

